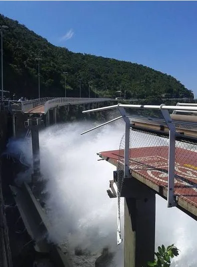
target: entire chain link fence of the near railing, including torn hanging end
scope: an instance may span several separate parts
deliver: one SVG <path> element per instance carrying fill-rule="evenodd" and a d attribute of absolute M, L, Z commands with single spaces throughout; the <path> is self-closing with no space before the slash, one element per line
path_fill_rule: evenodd
<path fill-rule="evenodd" d="M 124 184 L 125 135 L 119 147 L 118 197 Z M 130 129 L 130 170 L 168 188 L 169 137 L 162 137 Z M 197 206 L 197 144 L 176 140 L 175 191 L 176 196 Z M 120 203 L 120 200 L 118 201 Z"/>

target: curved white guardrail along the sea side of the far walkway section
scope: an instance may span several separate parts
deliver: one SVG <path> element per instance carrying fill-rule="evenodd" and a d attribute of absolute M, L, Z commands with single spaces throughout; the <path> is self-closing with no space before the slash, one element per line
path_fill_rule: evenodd
<path fill-rule="evenodd" d="M 76 105 L 76 104 L 87 104 L 87 103 L 97 103 L 104 101 L 114 100 L 112 98 L 79 98 L 79 97 L 59 97 L 53 98 L 44 103 L 44 113 L 51 108 L 56 106 L 66 106 L 66 105 Z"/>

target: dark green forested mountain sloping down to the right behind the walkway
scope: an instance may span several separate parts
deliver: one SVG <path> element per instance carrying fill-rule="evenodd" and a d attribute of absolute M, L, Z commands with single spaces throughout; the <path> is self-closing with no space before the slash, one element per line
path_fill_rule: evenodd
<path fill-rule="evenodd" d="M 90 54 L 73 53 L 57 47 L 18 21 L 0 14 L 3 30 L 4 89 L 18 97 L 38 97 L 38 62 L 40 60 L 40 97 L 64 96 L 64 74 L 67 96 L 88 97 L 194 97 L 191 90 L 171 75 L 136 63 Z"/>

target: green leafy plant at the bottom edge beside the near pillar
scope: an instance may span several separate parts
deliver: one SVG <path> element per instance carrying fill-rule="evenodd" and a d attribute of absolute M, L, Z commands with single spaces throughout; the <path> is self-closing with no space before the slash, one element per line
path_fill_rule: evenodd
<path fill-rule="evenodd" d="M 164 245 L 158 247 L 158 252 L 155 253 L 157 260 L 154 262 L 148 262 L 148 267 L 170 267 L 171 258 L 177 257 L 179 255 L 179 250 L 173 245 L 168 246 L 166 249 Z"/>

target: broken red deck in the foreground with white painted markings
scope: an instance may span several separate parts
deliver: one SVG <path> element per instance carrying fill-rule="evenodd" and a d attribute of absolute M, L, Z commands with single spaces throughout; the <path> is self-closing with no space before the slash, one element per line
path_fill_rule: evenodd
<path fill-rule="evenodd" d="M 194 159 L 197 163 L 197 152 L 183 148 L 176 148 L 176 152 L 175 195 L 178 196 L 177 207 L 184 209 L 191 217 L 197 218 L 197 165 L 191 164 Z M 130 149 L 129 168 L 132 177 L 165 199 L 168 186 L 168 153 L 167 146 Z M 124 150 L 100 152 L 99 156 L 116 167 L 120 161 L 124 165 Z"/>

